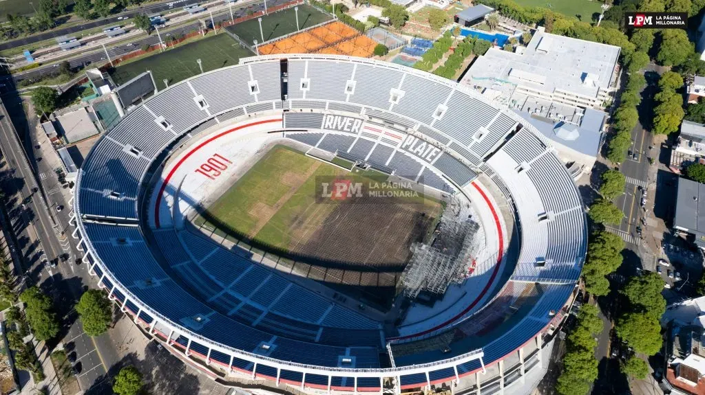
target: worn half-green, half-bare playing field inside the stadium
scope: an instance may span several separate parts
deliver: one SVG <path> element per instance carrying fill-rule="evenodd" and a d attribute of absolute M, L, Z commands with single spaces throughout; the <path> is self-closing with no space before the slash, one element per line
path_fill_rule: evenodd
<path fill-rule="evenodd" d="M 357 287 L 384 305 L 393 297 L 410 245 L 432 231 L 441 203 L 420 194 L 316 199 L 321 183 L 341 176 L 365 185 L 387 178 L 376 171 L 350 173 L 275 145 L 195 224 L 207 221 L 263 250 L 292 257 L 293 270 L 301 275 L 346 290 Z M 370 288 L 374 292 L 361 290 Z"/>

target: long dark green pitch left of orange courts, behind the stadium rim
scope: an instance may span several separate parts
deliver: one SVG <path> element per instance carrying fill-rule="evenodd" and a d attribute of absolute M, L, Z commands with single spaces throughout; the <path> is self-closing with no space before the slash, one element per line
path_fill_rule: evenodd
<path fill-rule="evenodd" d="M 162 53 L 140 60 L 118 65 L 111 73 L 116 84 L 123 84 L 147 70 L 152 70 L 157 88 L 164 89 L 163 79 L 169 80 L 169 86 L 200 73 L 196 59 L 200 59 L 203 71 L 220 67 L 237 65 L 240 58 L 252 56 L 253 53 L 240 46 L 226 32 L 207 37 L 190 44 L 177 46 Z"/>

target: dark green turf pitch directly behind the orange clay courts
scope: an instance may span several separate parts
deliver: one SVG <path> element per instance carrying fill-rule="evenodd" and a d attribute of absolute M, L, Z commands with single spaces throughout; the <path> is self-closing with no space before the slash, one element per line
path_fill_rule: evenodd
<path fill-rule="evenodd" d="M 318 11 L 312 6 L 303 4 L 298 7 L 299 25 L 301 29 L 318 25 L 319 23 L 326 22 L 326 20 L 333 19 L 331 15 L 321 13 L 321 11 Z M 277 37 L 295 32 L 295 12 L 296 11 L 294 11 L 294 8 L 292 7 L 277 11 L 276 13 L 264 15 L 262 17 L 262 34 L 264 34 L 264 41 L 276 39 Z M 226 29 L 240 37 L 240 39 L 243 39 L 243 41 L 245 41 L 248 45 L 252 45 L 254 40 L 257 40 L 260 44 L 262 43 L 262 37 L 259 35 L 259 22 L 257 21 L 257 18 L 245 20 L 245 22 L 228 26 Z"/>

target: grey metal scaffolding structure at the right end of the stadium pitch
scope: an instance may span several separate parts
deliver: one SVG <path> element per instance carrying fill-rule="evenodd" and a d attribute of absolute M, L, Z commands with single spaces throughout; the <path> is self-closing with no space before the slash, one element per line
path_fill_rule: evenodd
<path fill-rule="evenodd" d="M 400 286 L 406 297 L 422 291 L 442 295 L 448 285 L 462 283 L 478 249 L 479 224 L 472 221 L 469 202 L 453 197 L 429 244 L 414 243 Z"/>

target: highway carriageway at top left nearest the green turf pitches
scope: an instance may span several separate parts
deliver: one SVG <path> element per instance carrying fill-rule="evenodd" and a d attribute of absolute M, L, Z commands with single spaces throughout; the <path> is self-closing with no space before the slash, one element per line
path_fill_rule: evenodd
<path fill-rule="evenodd" d="M 281 4 L 285 4 L 288 0 L 269 0 L 267 1 L 267 6 L 278 6 Z M 262 3 L 256 3 L 256 4 L 250 4 L 247 7 L 242 7 L 238 8 L 235 10 L 233 8 L 233 17 L 234 18 L 240 18 L 244 15 L 247 15 L 247 11 L 252 10 L 253 12 L 257 12 L 259 10 L 264 11 L 264 1 Z M 204 14 L 207 15 L 207 14 Z M 210 16 L 210 15 L 209 15 Z M 226 11 L 225 13 L 221 13 L 218 15 L 213 15 L 213 20 L 216 22 L 221 22 L 223 20 L 229 20 L 231 19 L 231 15 L 229 11 Z M 199 22 L 193 22 L 188 25 L 184 25 L 181 27 L 176 27 L 175 29 L 172 30 L 160 30 L 159 34 L 161 35 L 161 39 L 163 41 L 168 40 L 169 35 L 173 34 L 186 34 L 188 32 L 192 32 L 194 30 L 197 30 L 200 27 Z M 219 34 L 226 34 L 224 30 L 221 30 L 221 33 Z M 156 33 L 152 33 L 147 37 L 142 37 L 140 39 L 135 39 L 135 41 L 131 41 L 130 44 L 121 44 L 119 46 L 111 46 L 107 48 L 108 55 L 110 56 L 111 60 L 115 60 L 117 58 L 120 58 L 121 56 L 125 55 L 126 53 L 133 52 L 137 49 L 139 49 L 141 46 L 149 44 L 149 45 L 156 45 L 159 44 L 159 36 Z M 79 67 L 79 66 L 84 66 L 90 63 L 105 63 L 107 62 L 105 52 L 102 51 L 102 49 L 97 49 L 94 50 L 90 53 L 85 53 L 79 56 L 76 56 L 75 58 L 72 58 L 68 60 L 68 63 L 71 64 L 71 67 Z M 5 76 L 5 79 L 8 78 L 13 78 L 15 82 L 19 82 L 23 79 L 27 78 L 34 78 L 34 77 L 39 77 L 44 73 L 49 73 L 54 70 L 54 67 L 58 67 L 59 64 L 56 63 L 54 65 L 46 65 L 42 67 L 37 67 L 32 70 L 27 70 L 25 72 L 19 72 L 17 74 L 13 74 L 11 76 Z M 0 79 L 0 83 L 2 80 Z"/>

